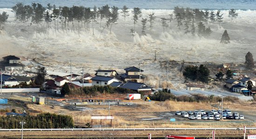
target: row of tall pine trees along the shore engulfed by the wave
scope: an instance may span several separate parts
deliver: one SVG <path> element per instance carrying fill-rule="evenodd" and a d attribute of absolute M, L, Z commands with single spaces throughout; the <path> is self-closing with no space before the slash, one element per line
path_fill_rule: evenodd
<path fill-rule="evenodd" d="M 165 32 L 168 27 L 172 29 L 173 21 L 176 20 L 178 30 L 181 31 L 183 28 L 185 34 L 190 33 L 193 36 L 197 34 L 200 37 L 208 37 L 212 32 L 209 27 L 209 21 L 212 23 L 218 22 L 220 25 L 223 19 L 223 14 L 221 14 L 220 10 L 214 13 L 214 11 L 178 6 L 174 8 L 174 12 L 170 13 L 168 17 L 157 17 L 153 12 L 148 14 L 145 18 L 141 18 L 142 12 L 140 8 L 134 7 L 130 12 L 127 6 L 123 6 L 121 12 L 119 12 L 118 7 L 109 7 L 108 5 L 101 7 L 94 6 L 91 9 L 85 6 L 57 7 L 47 4 L 46 7 L 43 7 L 40 3 L 32 3 L 31 5 L 17 3 L 12 9 L 15 19 L 20 22 L 29 22 L 31 25 L 35 24 L 37 26 L 44 25 L 44 28 L 47 29 L 52 28 L 51 24 L 54 24 L 55 32 L 59 30 L 67 32 L 67 30 L 70 30 L 78 32 L 78 35 L 82 30 L 90 31 L 91 29 L 94 35 L 95 24 L 99 24 L 101 32 L 108 28 L 109 33 L 111 33 L 111 29 L 113 25 L 117 24 L 119 16 L 122 16 L 124 20 L 131 16 L 134 25 L 134 27 L 130 29 L 132 36 L 135 35 L 135 30 L 138 30 L 135 28 L 138 22 L 141 24 L 141 31 L 139 32 L 141 32 L 141 35 L 146 35 L 148 23 L 149 29 L 152 30 L 155 26 L 155 20 L 158 18 L 161 19 L 163 32 Z M 231 21 L 237 16 L 236 10 L 229 10 Z"/>

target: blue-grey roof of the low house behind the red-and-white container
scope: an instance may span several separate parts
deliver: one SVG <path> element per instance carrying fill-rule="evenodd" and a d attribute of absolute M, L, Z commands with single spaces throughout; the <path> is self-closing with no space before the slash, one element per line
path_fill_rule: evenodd
<path fill-rule="evenodd" d="M 140 82 L 126 82 L 120 86 L 120 88 L 127 88 L 131 90 L 139 90 L 139 89 L 151 89 L 145 83 Z"/>

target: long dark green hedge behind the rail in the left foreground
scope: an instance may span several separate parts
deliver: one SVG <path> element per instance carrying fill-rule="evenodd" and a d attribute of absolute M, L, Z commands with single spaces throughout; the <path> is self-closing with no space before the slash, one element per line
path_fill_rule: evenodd
<path fill-rule="evenodd" d="M 74 120 L 69 115 L 57 115 L 50 113 L 37 116 L 1 116 L 0 127 L 4 129 L 21 128 L 20 122 L 26 122 L 23 128 L 64 128 L 74 127 Z"/>

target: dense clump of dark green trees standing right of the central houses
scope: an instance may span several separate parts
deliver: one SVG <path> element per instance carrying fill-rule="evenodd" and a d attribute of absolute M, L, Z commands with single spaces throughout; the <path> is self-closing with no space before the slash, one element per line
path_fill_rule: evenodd
<path fill-rule="evenodd" d="M 183 72 L 183 76 L 191 80 L 197 80 L 205 83 L 209 82 L 209 75 L 210 75 L 209 69 L 202 64 L 199 67 L 188 66 L 184 69 L 184 72 Z"/>

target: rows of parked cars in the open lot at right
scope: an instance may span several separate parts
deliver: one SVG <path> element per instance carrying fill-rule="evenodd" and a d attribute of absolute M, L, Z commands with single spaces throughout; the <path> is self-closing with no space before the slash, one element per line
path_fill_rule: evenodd
<path fill-rule="evenodd" d="M 190 120 L 194 119 L 203 119 L 203 120 L 221 120 L 221 116 L 223 119 L 244 119 L 243 115 L 239 115 L 238 113 L 232 112 L 229 109 L 225 109 L 223 112 L 221 110 L 212 109 L 211 111 L 204 110 L 195 110 L 195 111 L 176 111 L 175 115 L 182 115 L 182 117 L 188 117 Z"/>

